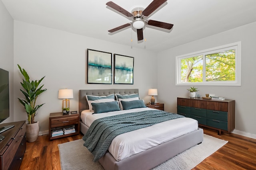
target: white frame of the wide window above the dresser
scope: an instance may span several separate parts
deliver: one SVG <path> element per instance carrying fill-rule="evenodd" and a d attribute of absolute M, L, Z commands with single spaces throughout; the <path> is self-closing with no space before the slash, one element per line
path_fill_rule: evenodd
<path fill-rule="evenodd" d="M 211 81 L 206 82 L 206 65 L 205 56 L 208 54 L 218 53 L 227 51 L 230 49 L 236 50 L 236 80 L 235 81 Z M 203 55 L 203 82 L 181 82 L 181 60 Z M 176 86 L 241 86 L 241 41 L 230 43 L 227 45 L 221 45 L 194 53 L 176 56 Z"/>

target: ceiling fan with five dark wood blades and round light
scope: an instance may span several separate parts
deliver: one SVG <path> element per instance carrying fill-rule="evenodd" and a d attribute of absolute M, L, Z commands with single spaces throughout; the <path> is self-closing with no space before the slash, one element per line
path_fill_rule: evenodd
<path fill-rule="evenodd" d="M 152 25 L 152 26 L 160 27 L 164 29 L 172 29 L 173 24 L 171 23 L 165 23 L 165 22 L 154 21 L 154 20 L 145 20 L 146 17 L 148 17 L 152 12 L 154 12 L 166 1 L 167 0 L 153 0 L 145 9 L 142 7 L 136 7 L 132 9 L 131 11 L 132 13 L 126 11 L 124 8 L 118 6 L 112 1 L 107 2 L 106 5 L 109 6 L 110 8 L 113 8 L 114 10 L 120 12 L 121 14 L 124 14 L 128 18 L 133 19 L 132 22 L 110 29 L 108 30 L 108 32 L 112 33 L 114 31 L 118 31 L 120 29 L 123 29 L 125 27 L 132 25 L 132 27 L 137 29 L 137 37 L 138 37 L 138 41 L 140 41 L 143 39 L 143 27 L 145 25 Z"/>

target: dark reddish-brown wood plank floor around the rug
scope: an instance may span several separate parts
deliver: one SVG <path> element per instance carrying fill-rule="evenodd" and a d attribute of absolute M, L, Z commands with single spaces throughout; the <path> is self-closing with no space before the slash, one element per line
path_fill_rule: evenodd
<path fill-rule="evenodd" d="M 222 133 L 211 129 L 204 133 L 227 140 L 228 143 L 198 164 L 193 170 L 255 170 L 256 139 Z M 27 143 L 20 170 L 60 170 L 58 144 L 82 138 L 82 134 L 49 141 L 48 135 L 39 136 L 36 142 Z"/>

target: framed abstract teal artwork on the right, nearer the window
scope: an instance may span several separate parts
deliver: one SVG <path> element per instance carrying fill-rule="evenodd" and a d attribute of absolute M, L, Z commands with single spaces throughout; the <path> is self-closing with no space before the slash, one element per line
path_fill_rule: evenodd
<path fill-rule="evenodd" d="M 133 84 L 134 57 L 114 54 L 114 84 Z"/>

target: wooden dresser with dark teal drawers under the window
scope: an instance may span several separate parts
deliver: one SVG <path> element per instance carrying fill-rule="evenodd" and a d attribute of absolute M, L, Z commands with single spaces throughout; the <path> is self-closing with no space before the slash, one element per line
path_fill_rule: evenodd
<path fill-rule="evenodd" d="M 235 129 L 235 100 L 177 98 L 177 112 L 196 119 L 200 126 L 218 130 L 218 135 Z"/>

